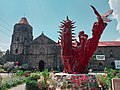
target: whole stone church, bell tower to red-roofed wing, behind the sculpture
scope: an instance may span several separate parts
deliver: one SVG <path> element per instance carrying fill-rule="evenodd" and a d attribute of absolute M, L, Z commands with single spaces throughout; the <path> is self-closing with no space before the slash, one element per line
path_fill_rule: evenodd
<path fill-rule="evenodd" d="M 54 70 L 63 68 L 60 46 L 43 32 L 33 39 L 33 28 L 25 17 L 14 25 L 10 53 L 7 58 L 14 62 L 19 61 L 19 65 L 27 63 L 30 67 L 40 67 L 43 63 L 44 68 Z M 120 60 L 120 42 L 99 42 L 88 67 L 103 71 L 105 67 L 114 68 L 115 60 Z"/>

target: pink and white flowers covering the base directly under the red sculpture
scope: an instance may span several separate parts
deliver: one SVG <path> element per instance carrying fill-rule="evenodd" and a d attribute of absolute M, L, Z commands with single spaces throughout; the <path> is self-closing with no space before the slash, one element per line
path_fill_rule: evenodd
<path fill-rule="evenodd" d="M 98 83 L 95 75 L 91 74 L 66 74 L 56 75 L 55 88 L 72 90 L 98 90 Z"/>

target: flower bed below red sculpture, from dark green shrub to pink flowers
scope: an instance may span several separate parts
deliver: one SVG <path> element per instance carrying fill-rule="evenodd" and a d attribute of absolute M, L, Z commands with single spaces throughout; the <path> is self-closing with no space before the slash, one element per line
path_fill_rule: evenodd
<path fill-rule="evenodd" d="M 99 90 L 95 75 L 54 74 L 45 70 L 31 73 L 26 79 L 27 90 Z"/>

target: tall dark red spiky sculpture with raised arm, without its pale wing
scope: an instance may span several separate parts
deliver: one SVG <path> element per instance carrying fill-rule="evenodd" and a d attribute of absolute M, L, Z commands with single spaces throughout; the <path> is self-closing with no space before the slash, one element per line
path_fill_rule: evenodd
<path fill-rule="evenodd" d="M 88 39 L 88 35 L 84 31 L 80 31 L 79 41 L 77 41 L 73 33 L 75 22 L 69 20 L 68 16 L 67 20 L 61 22 L 59 39 L 65 73 L 85 73 L 89 60 L 98 46 L 100 36 L 107 26 L 97 10 L 93 6 L 91 7 L 98 18 L 98 22 L 93 25 L 92 38 Z M 77 45 L 74 45 L 75 42 Z"/>

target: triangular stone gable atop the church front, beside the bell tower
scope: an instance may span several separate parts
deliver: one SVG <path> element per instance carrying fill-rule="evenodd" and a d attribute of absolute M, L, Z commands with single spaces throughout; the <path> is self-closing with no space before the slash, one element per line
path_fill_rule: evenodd
<path fill-rule="evenodd" d="M 53 41 L 52 39 L 50 39 L 49 37 L 47 37 L 46 35 L 44 35 L 44 33 L 42 32 L 42 34 L 40 36 L 38 36 L 37 38 L 35 38 L 32 42 L 30 43 L 39 43 L 39 44 L 54 44 L 56 43 L 55 41 Z"/>

